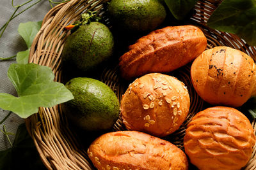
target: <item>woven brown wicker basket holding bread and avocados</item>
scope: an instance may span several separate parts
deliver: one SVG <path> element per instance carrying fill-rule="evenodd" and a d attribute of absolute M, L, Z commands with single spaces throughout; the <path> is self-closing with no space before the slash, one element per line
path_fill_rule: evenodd
<path fill-rule="evenodd" d="M 42 28 L 36 35 L 31 46 L 29 62 L 49 66 L 55 74 L 55 81 L 61 81 L 61 52 L 65 39 L 70 32 L 64 27 L 79 19 L 81 13 L 86 10 L 97 11 L 100 16 L 104 15 L 106 8 L 104 4 L 109 0 L 71 0 L 65 4 L 59 4 L 52 8 L 45 15 Z M 198 1 L 195 6 L 193 17 L 188 24 L 197 25 L 204 31 L 208 40 L 207 48 L 213 46 L 230 46 L 241 50 L 252 56 L 255 60 L 256 49 L 249 46 L 233 34 L 209 29 L 205 23 L 220 4 L 221 0 Z M 108 20 L 106 20 L 108 22 Z M 177 76 L 189 88 L 191 97 L 191 110 L 188 118 L 180 129 L 164 139 L 171 141 L 179 148 L 183 149 L 182 140 L 186 130 L 186 124 L 198 111 L 202 110 L 204 102 L 196 94 L 189 78 L 189 66 L 182 67 L 178 71 L 170 73 Z M 105 69 L 102 74 L 102 81 L 109 85 L 118 96 L 127 88 L 118 76 L 118 67 Z M 256 132 L 255 120 L 252 120 L 253 128 Z M 90 159 L 88 159 L 86 148 L 79 142 L 76 135 L 70 130 L 67 119 L 61 110 L 61 104 L 52 108 L 39 108 L 38 113 L 26 119 L 26 127 L 35 142 L 36 148 L 42 161 L 48 169 L 94 169 Z M 113 131 L 125 130 L 122 120 L 119 118 L 113 126 Z M 256 169 L 256 148 L 254 146 L 252 158 L 244 169 Z"/>

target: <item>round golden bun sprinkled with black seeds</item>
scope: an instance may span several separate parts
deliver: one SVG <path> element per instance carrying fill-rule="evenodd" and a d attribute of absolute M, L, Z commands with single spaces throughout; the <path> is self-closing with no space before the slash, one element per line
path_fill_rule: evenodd
<path fill-rule="evenodd" d="M 193 86 L 202 99 L 233 107 L 256 95 L 255 73 L 250 56 L 227 46 L 205 50 L 191 66 Z"/>

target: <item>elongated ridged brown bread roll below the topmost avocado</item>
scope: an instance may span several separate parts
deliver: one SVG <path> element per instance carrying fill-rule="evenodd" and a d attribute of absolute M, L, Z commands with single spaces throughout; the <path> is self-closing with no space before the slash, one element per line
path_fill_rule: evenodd
<path fill-rule="evenodd" d="M 192 25 L 164 27 L 129 46 L 120 57 L 122 77 L 131 79 L 147 73 L 164 73 L 188 64 L 204 52 L 207 39 Z"/>

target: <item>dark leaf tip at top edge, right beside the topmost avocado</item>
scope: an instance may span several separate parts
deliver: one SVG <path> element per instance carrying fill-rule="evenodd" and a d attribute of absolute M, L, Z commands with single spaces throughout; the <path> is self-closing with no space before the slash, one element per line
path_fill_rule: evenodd
<path fill-rule="evenodd" d="M 173 17 L 183 20 L 198 0 L 164 0 Z"/>

